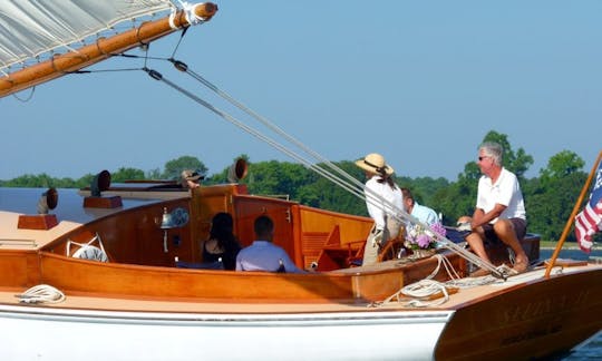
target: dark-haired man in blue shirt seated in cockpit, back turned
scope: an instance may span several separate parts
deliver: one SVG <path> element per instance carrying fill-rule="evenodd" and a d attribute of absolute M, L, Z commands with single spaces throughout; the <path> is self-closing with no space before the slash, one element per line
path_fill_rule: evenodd
<path fill-rule="evenodd" d="M 236 271 L 304 273 L 291 261 L 287 251 L 272 243 L 274 223 L 269 216 L 259 216 L 254 231 L 256 241 L 239 252 Z"/>

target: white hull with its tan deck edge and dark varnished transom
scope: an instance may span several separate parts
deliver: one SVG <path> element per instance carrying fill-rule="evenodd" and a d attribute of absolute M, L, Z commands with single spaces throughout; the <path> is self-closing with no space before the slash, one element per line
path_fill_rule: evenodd
<path fill-rule="evenodd" d="M 528 360 L 567 351 L 601 328 L 601 292 L 590 281 L 599 282 L 602 269 L 554 282 L 543 281 L 543 272 L 525 274 L 527 281 L 483 286 L 487 291 L 460 291 L 447 305 L 425 310 L 363 302 L 111 299 L 77 292 L 66 303 L 22 306 L 7 303 L 12 294 L 4 291 L 0 335 L 13 347 L 0 355 L 77 359 L 94 348 L 87 358 Z M 559 293 L 559 286 L 581 291 Z M 69 348 L 48 338 L 49 332 L 69 340 Z M 20 348 L 26 333 L 40 342 Z M 233 350 L 232 340 L 237 340 Z"/>

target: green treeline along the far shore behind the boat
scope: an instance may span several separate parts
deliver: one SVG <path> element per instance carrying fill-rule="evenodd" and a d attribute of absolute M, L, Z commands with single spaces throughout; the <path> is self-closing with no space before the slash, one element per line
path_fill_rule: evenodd
<path fill-rule="evenodd" d="M 524 174 L 533 164 L 531 155 L 523 148 L 512 149 L 507 136 L 496 131 L 489 131 L 483 140 L 497 142 L 504 147 L 504 166 L 515 173 L 521 182 L 528 232 L 541 234 L 542 240 L 559 240 L 588 178 L 588 172 L 583 170 L 585 162 L 573 152 L 562 150 L 548 159 L 538 176 L 527 179 Z M 249 163 L 247 176 L 241 183 L 247 185 L 251 194 L 287 196 L 291 201 L 313 207 L 367 215 L 362 199 L 303 165 L 276 160 L 251 163 L 246 155 L 241 157 Z M 363 172 L 353 160 L 334 164 L 359 182 L 365 182 Z M 326 169 L 323 165 L 318 166 Z M 185 168 L 196 169 L 205 175 L 207 172 L 205 165 L 197 158 L 183 156 L 167 162 L 163 172 L 154 169 L 145 173 L 134 168 L 119 168 L 111 173 L 111 182 L 178 179 L 181 170 Z M 203 184 L 227 182 L 229 169 L 230 166 L 221 173 L 206 176 Z M 0 180 L 0 186 L 79 188 L 88 186 L 93 177 L 93 174 L 84 175 L 79 179 L 52 178 L 46 174 L 25 175 L 10 180 Z M 473 214 L 479 177 L 478 166 L 470 160 L 466 163 L 456 182 L 443 177 L 436 179 L 397 177 L 396 182 L 399 186 L 410 188 L 418 203 L 441 213 L 446 225 L 454 225 L 459 216 Z M 596 241 L 600 241 L 600 234 L 596 237 Z M 574 241 L 573 232 L 569 234 L 567 241 Z"/>

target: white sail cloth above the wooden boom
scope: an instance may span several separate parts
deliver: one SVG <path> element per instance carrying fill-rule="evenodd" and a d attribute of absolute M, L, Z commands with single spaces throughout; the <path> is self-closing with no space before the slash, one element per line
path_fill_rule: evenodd
<path fill-rule="evenodd" d="M 0 70 L 171 8 L 169 0 L 2 0 Z"/>

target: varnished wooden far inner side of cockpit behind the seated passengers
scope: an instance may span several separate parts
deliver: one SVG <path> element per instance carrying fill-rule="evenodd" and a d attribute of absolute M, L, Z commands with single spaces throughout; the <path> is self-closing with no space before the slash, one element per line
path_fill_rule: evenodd
<path fill-rule="evenodd" d="M 163 209 L 183 207 L 190 222 L 182 228 L 167 230 L 167 248 L 163 250 L 164 231 L 158 227 Z M 217 212 L 231 213 L 234 232 L 243 246 L 254 241 L 253 222 L 262 214 L 275 224 L 274 244 L 282 246 L 300 267 L 318 260 L 327 238 L 340 230 L 336 241 L 340 246 L 363 240 L 371 221 L 367 217 L 339 214 L 301 206 L 295 202 L 246 194 L 243 185 L 229 184 L 194 189 L 192 197 L 183 196 L 162 203 L 110 213 L 59 236 L 43 250 L 65 254 L 67 240 L 86 242 L 98 233 L 107 253 L 116 262 L 128 264 L 173 266 L 174 258 L 202 262 L 201 244 L 208 236 L 211 219 Z M 323 236 L 322 236 L 323 235 Z"/>

